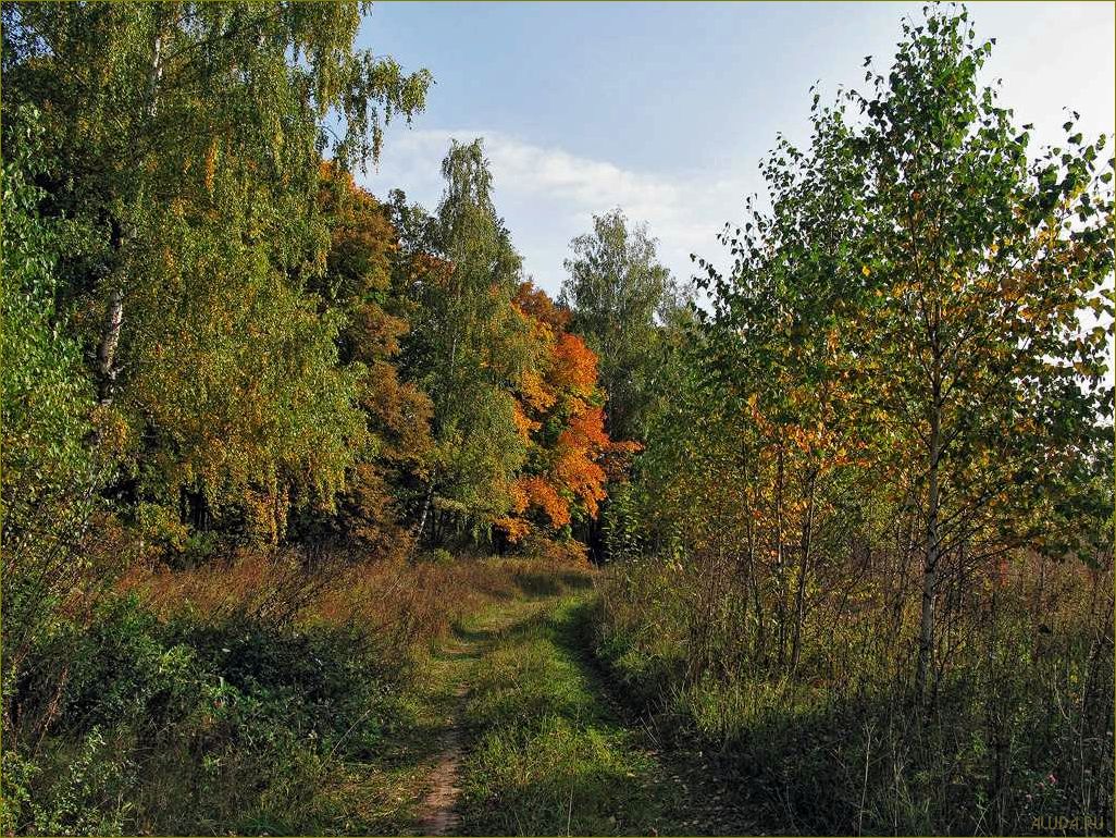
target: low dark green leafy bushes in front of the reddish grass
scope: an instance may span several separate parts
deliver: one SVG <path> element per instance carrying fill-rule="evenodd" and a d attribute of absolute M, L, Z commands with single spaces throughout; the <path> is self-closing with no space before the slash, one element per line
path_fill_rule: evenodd
<path fill-rule="evenodd" d="M 379 747 L 402 666 L 355 628 L 106 600 L 40 637 L 13 684 L 6 831 L 317 829 L 330 768 Z"/>

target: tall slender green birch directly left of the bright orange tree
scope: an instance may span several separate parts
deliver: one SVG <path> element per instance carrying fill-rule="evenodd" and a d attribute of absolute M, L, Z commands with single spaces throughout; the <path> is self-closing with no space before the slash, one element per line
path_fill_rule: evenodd
<path fill-rule="evenodd" d="M 404 363 L 433 401 L 437 448 L 419 533 L 446 518 L 480 534 L 513 503 L 527 450 L 512 390 L 531 369 L 535 347 L 512 306 L 520 258 L 492 204 L 481 141 L 454 142 L 442 173 L 437 213 L 416 231 L 432 253 L 408 248 L 419 250 L 407 292 L 416 311 Z"/>

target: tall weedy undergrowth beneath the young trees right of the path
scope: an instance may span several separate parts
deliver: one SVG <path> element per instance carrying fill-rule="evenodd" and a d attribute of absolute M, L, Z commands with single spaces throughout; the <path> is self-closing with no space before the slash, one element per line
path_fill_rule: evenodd
<path fill-rule="evenodd" d="M 1033 612 L 1006 589 L 994 622 L 952 649 L 921 701 L 912 657 L 882 628 L 873 637 L 869 611 L 844 625 L 819 618 L 811 657 L 791 676 L 750 659 L 715 625 L 693 630 L 705 617 L 672 573 L 654 561 L 614 568 L 595 616 L 597 655 L 676 749 L 714 754 L 712 770 L 764 831 L 1112 832 L 1103 604 L 1090 622 L 1078 602 Z M 699 636 L 715 654 L 694 647 Z"/>

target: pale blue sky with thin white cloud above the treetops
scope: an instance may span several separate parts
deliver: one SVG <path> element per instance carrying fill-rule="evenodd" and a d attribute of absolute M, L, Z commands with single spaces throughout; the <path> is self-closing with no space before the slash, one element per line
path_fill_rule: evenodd
<path fill-rule="evenodd" d="M 781 132 L 809 136 L 809 88 L 864 89 L 864 59 L 891 64 L 899 2 L 377 2 L 358 46 L 435 79 L 411 125 L 393 122 L 375 194 L 403 189 L 433 210 L 451 139 L 484 137 L 494 201 L 550 293 L 569 241 L 594 213 L 646 222 L 674 275 L 690 254 L 724 264 L 716 234 L 762 194 L 760 159 Z M 1110 2 L 974 2 L 997 44 L 984 80 L 1035 144 L 1057 142 L 1066 109 L 1112 137 L 1116 48 Z M 886 75 L 886 74 L 885 74 Z M 1109 145 L 1108 149 L 1112 146 Z M 1107 153 L 1107 151 L 1106 151 Z"/>

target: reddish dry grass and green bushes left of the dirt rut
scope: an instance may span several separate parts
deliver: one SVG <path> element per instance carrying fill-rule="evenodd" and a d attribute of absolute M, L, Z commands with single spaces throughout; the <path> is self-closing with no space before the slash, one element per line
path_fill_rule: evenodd
<path fill-rule="evenodd" d="M 485 604 L 586 583 L 530 560 L 133 573 L 4 684 L 3 834 L 397 832 L 423 664 Z"/>

